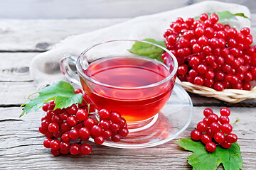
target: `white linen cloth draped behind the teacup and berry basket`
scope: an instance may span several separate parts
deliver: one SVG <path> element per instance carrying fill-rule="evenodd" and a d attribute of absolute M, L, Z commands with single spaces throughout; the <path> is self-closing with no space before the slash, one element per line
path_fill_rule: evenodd
<path fill-rule="evenodd" d="M 64 55 L 80 55 L 87 47 L 107 40 L 142 40 L 144 38 L 154 38 L 155 40 L 163 41 L 164 31 L 169 28 L 171 21 L 174 21 L 177 17 L 185 19 L 199 16 L 201 13 L 213 13 L 217 11 L 245 13 L 245 16 L 250 18 L 250 11 L 246 6 L 219 1 L 203 1 L 171 11 L 149 16 L 139 16 L 114 26 L 65 38 L 65 40 L 56 44 L 51 50 L 43 52 L 31 60 L 31 77 L 36 82 L 38 89 L 42 89 L 48 84 L 53 84 L 64 79 L 59 69 L 59 62 Z M 250 28 L 250 20 L 239 16 L 237 18 L 238 20 L 228 21 L 228 23 L 236 26 L 238 30 L 245 26 Z"/>

